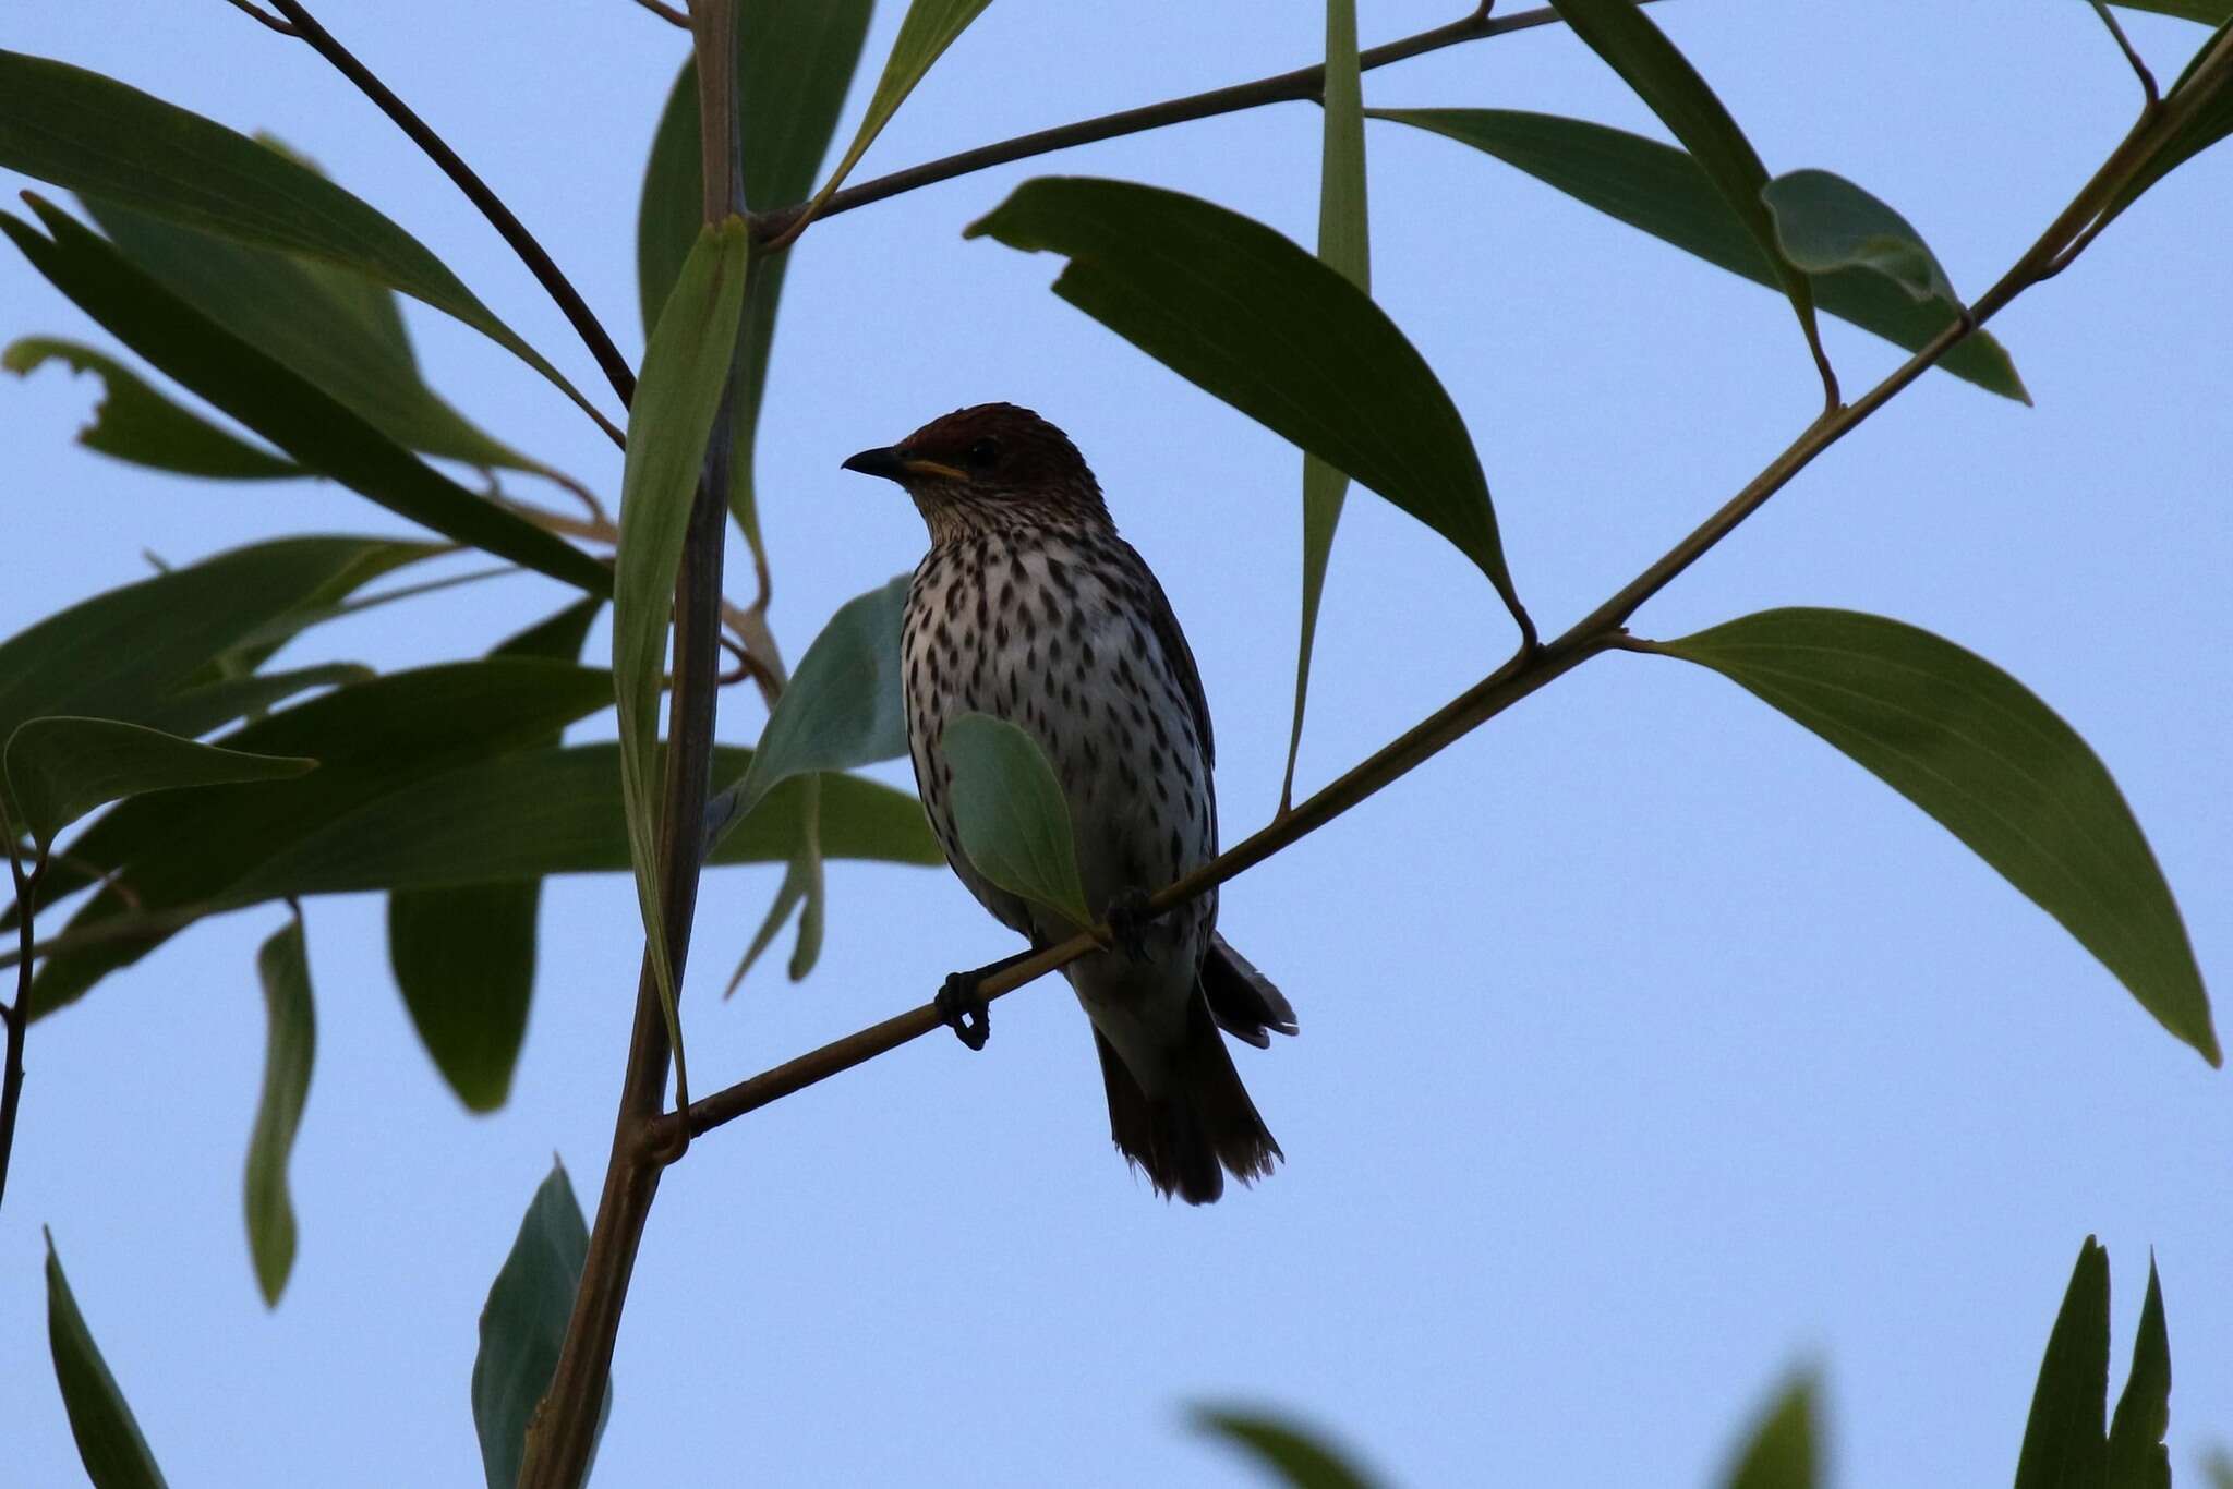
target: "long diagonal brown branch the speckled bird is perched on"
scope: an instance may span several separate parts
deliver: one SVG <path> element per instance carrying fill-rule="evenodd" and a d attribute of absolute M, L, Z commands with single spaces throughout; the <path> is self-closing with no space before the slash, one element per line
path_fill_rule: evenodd
<path fill-rule="evenodd" d="M 1782 491 L 1793 475 L 1804 471 L 1815 455 L 1849 435 L 1862 420 L 1882 409 L 1907 384 L 1929 371 L 1940 357 L 1954 350 L 1967 335 L 2003 310 L 2025 288 L 2050 279 L 2070 261 L 2074 250 L 2083 250 L 2099 230 L 2099 219 L 2117 199 L 2126 183 L 2139 176 L 2157 150 L 2177 136 L 2177 129 L 2195 109 L 2233 76 L 2233 36 L 2224 38 L 2211 58 L 2200 63 L 2188 76 L 2191 89 L 2175 94 L 2164 105 L 2150 105 L 2139 123 L 2110 152 L 2101 170 L 2079 190 L 2070 205 L 2048 225 L 2048 230 L 2016 259 L 2014 266 L 1976 301 L 1972 310 L 1956 317 L 1932 337 L 1918 353 L 1894 368 L 1882 382 L 1860 400 L 1818 415 L 1800 435 L 1771 460 L 1760 475 L 1744 484 L 1737 496 L 1724 502 L 1710 518 L 1697 525 L 1681 542 L 1670 547 L 1650 567 L 1621 585 L 1603 605 L 1576 621 L 1563 636 L 1543 647 L 1523 647 L 1510 663 L 1474 683 L 1418 726 L 1393 739 L 1376 755 L 1351 768 L 1346 775 L 1309 797 L 1293 813 L 1275 817 L 1271 826 L 1235 844 L 1204 864 L 1195 873 L 1168 884 L 1148 900 L 1150 913 L 1161 913 L 1186 904 L 1226 880 L 1253 868 L 1288 844 L 1315 833 L 1351 806 L 1364 801 L 1389 781 L 1411 772 L 1447 746 L 1505 712 L 1527 694 L 1572 672 L 1581 663 L 1608 650 L 1628 645 L 1628 618 L 1655 594 L 1666 589 L 1684 569 L 1704 558 L 1715 545 L 1728 538 L 1748 516 Z M 835 201 L 835 199 L 833 199 Z M 1058 947 L 1047 947 L 1012 967 L 991 973 L 980 984 L 985 1000 L 1000 998 L 1025 982 L 1067 967 L 1072 960 L 1105 944 L 1108 926 L 1094 926 Z M 922 1038 L 940 1029 L 945 1018 L 936 1005 L 922 1005 L 887 1018 L 880 1025 L 849 1034 L 813 1049 L 795 1060 L 786 1060 L 748 1080 L 690 1103 L 686 1112 L 663 1118 L 668 1125 L 686 1127 L 690 1134 L 706 1134 L 730 1123 L 746 1112 L 755 1112 L 773 1101 L 782 1101 L 820 1080 L 853 1069 L 880 1054 Z"/>

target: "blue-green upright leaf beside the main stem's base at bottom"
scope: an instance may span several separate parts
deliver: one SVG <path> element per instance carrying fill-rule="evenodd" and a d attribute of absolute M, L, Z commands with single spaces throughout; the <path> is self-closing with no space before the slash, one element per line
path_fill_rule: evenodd
<path fill-rule="evenodd" d="M 489 1489 L 511 1489 L 520 1480 L 520 1458 L 527 1453 L 527 1424 L 534 1422 L 543 1393 L 558 1371 L 558 1346 L 574 1313 L 574 1290 L 590 1257 L 590 1226 L 581 1201 L 565 1176 L 563 1163 L 552 1163 L 552 1176 L 536 1188 L 520 1235 L 511 1241 L 505 1266 L 489 1284 L 489 1301 L 480 1310 L 480 1353 L 473 1357 L 473 1429 L 480 1433 L 480 1467 Z M 596 1411 L 596 1435 L 605 1435 L 612 1415 L 612 1382 Z M 590 1447 L 592 1460 L 596 1444 Z M 587 1478 L 587 1469 L 583 1471 Z"/>

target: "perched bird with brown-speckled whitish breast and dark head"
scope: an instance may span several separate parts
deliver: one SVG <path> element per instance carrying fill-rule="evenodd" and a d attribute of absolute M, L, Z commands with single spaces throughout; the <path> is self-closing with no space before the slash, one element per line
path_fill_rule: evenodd
<path fill-rule="evenodd" d="M 969 864 L 947 721 L 983 712 L 1027 730 L 1063 786 L 1085 904 L 1116 931 L 1065 969 L 1094 1025 L 1116 1147 L 1159 1194 L 1195 1205 L 1224 1192 L 1226 1172 L 1268 1174 L 1284 1154 L 1217 1029 L 1262 1049 L 1295 1031 L 1295 1011 L 1217 935 L 1215 891 L 1139 913 L 1217 857 L 1210 710 L 1163 587 L 1116 536 L 1076 446 L 1029 409 L 958 409 L 844 469 L 900 482 L 931 529 L 902 641 L 916 786 L 953 873 L 1034 947 L 1072 926 Z M 956 1031 L 983 1043 L 983 1022 L 956 1018 Z"/>

